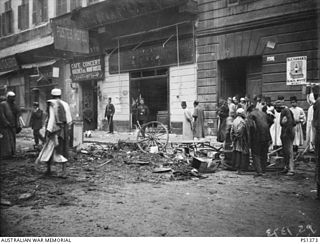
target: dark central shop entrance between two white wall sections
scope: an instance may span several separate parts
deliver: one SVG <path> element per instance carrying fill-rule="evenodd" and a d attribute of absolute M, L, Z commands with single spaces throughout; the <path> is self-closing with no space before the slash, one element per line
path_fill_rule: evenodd
<path fill-rule="evenodd" d="M 131 128 L 136 126 L 136 108 L 143 98 L 149 107 L 149 121 L 159 121 L 168 129 L 169 119 L 169 78 L 168 69 L 135 71 L 130 73 Z"/>

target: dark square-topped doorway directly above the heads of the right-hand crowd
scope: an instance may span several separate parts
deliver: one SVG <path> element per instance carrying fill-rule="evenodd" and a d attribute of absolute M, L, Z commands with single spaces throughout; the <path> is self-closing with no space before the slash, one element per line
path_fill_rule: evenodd
<path fill-rule="evenodd" d="M 219 98 L 249 95 L 253 99 L 262 92 L 262 58 L 221 60 L 219 67 Z"/>

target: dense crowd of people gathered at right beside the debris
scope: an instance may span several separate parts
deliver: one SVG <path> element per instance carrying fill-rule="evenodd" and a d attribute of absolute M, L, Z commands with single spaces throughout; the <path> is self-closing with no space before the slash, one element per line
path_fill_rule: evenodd
<path fill-rule="evenodd" d="M 319 91 L 315 86 L 308 92 L 307 116 L 298 106 L 296 96 L 291 96 L 289 101 L 290 105 L 287 106 L 283 96 L 278 96 L 272 102 L 270 97 L 262 95 L 256 96 L 253 101 L 247 96 L 220 99 L 217 140 L 224 144 L 225 150 L 232 151 L 231 168 L 239 174 L 248 169 L 251 156 L 256 176 L 262 176 L 266 172 L 268 152 L 280 147 L 285 165 L 282 173 L 295 175 L 294 156 L 299 147 L 305 145 L 306 151 L 316 153 L 319 197 Z M 306 140 L 303 128 L 306 128 Z"/>

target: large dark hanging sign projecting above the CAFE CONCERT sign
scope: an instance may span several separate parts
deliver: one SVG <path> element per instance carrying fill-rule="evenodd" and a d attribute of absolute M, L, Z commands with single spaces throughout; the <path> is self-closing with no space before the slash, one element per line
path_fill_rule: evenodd
<path fill-rule="evenodd" d="M 89 32 L 74 27 L 53 25 L 55 49 L 89 53 Z"/>

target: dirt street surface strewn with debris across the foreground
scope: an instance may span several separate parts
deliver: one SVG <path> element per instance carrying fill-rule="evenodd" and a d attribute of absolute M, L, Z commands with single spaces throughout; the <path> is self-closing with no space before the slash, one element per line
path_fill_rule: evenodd
<path fill-rule="evenodd" d="M 174 156 L 142 154 L 134 145 L 88 144 L 71 155 L 65 178 L 60 165 L 51 176 L 43 174 L 45 166 L 36 170 L 36 155 L 1 162 L 1 236 L 320 233 L 312 161 L 299 162 L 293 177 L 219 169 L 199 179 Z M 153 173 L 159 167 L 172 170 Z"/>

